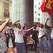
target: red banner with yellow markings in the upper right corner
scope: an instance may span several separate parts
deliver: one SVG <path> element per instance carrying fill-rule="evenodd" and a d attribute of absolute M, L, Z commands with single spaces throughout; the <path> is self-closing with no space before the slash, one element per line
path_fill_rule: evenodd
<path fill-rule="evenodd" d="M 46 0 L 41 5 L 42 12 L 48 12 L 49 15 L 53 13 L 53 0 Z"/>

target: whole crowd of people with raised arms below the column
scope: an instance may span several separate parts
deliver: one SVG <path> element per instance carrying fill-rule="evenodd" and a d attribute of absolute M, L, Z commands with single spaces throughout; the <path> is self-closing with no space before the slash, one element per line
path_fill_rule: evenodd
<path fill-rule="evenodd" d="M 48 21 L 48 19 L 47 19 Z M 53 53 L 53 24 L 27 25 L 9 23 L 9 19 L 0 25 L 0 53 L 27 53 L 27 48 L 34 47 L 39 53 Z"/>

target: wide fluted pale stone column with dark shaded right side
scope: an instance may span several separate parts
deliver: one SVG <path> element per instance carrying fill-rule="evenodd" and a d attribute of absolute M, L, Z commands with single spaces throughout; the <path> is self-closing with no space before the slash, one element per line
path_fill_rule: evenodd
<path fill-rule="evenodd" d="M 33 24 L 33 1 L 32 0 L 12 0 L 12 21 L 20 20 L 23 25 Z"/>

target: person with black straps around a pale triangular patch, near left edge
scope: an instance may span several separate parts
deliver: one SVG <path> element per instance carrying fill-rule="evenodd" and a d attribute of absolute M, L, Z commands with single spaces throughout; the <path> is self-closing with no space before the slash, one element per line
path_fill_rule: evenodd
<path fill-rule="evenodd" d="M 7 53 L 15 53 L 15 35 L 12 23 L 9 22 L 5 27 Z"/>

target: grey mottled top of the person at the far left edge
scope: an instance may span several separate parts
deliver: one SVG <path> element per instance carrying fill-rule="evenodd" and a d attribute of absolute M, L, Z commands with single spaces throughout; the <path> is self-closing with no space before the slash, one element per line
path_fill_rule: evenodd
<path fill-rule="evenodd" d="M 6 37 L 4 33 L 0 33 L 0 53 L 4 53 L 7 50 Z"/>

